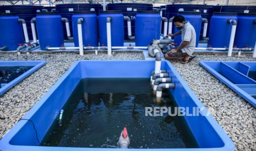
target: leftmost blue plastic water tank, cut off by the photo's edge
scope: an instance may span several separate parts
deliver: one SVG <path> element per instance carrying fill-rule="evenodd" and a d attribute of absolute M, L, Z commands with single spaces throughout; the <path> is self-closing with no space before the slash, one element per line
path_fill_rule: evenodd
<path fill-rule="evenodd" d="M 15 13 L 0 13 L 0 47 L 16 50 L 18 44 L 24 43 L 23 29 Z"/>

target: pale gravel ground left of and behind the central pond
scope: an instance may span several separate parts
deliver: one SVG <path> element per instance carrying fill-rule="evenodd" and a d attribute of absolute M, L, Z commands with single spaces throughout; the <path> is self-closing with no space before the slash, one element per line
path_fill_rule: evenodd
<path fill-rule="evenodd" d="M 0 97 L 0 138 L 34 106 L 36 101 L 52 87 L 69 67 L 78 60 L 143 60 L 142 53 L 115 53 L 113 56 L 100 53 L 80 56 L 75 53 L 51 54 L 1 54 L 0 60 L 46 60 L 41 67 L 22 82 Z"/>

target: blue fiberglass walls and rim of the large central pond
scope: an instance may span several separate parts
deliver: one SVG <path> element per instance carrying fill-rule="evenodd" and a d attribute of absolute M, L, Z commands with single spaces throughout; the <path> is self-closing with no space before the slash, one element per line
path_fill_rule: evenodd
<path fill-rule="evenodd" d="M 150 75 L 154 67 L 155 61 L 75 62 L 45 96 L 24 115 L 24 120 L 20 120 L 17 125 L 3 136 L 2 140 L 0 140 L 0 150 L 113 150 L 113 148 L 91 148 L 90 146 L 85 148 L 46 147 L 39 146 L 39 142 L 41 143 L 47 131 L 50 130 L 50 127 L 58 117 L 59 111 L 66 104 L 81 79 L 148 78 L 150 83 Z M 162 61 L 161 69 L 167 70 L 176 85 L 175 89 L 169 89 L 168 91 L 176 101 L 177 106 L 204 107 L 170 62 Z M 94 88 L 96 87 L 94 86 Z M 199 116 L 184 116 L 184 121 L 192 132 L 195 141 L 197 141 L 198 148 L 170 148 L 168 150 L 235 150 L 233 142 L 224 130 L 221 129 L 211 115 L 206 115 L 206 113 L 207 111 L 204 109 L 199 113 Z M 31 121 L 37 130 L 37 137 Z M 101 129 L 99 131 L 107 130 Z M 38 138 L 38 141 L 36 138 Z"/>

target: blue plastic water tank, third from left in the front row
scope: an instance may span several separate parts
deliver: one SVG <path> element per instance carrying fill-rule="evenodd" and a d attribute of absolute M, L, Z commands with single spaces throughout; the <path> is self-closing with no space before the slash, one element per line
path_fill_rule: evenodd
<path fill-rule="evenodd" d="M 81 24 L 83 32 L 83 45 L 97 47 L 99 45 L 97 30 L 98 21 L 96 13 L 92 11 L 77 11 L 74 12 L 74 15 L 72 16 L 75 47 L 79 47 L 77 26 L 77 21 L 79 18 L 84 18 L 84 21 Z"/>

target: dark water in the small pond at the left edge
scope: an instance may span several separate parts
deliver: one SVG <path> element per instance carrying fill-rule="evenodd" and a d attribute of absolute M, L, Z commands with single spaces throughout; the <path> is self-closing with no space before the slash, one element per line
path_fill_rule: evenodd
<path fill-rule="evenodd" d="M 7 84 L 25 73 L 34 66 L 0 66 L 0 88 L 1 84 Z"/>

